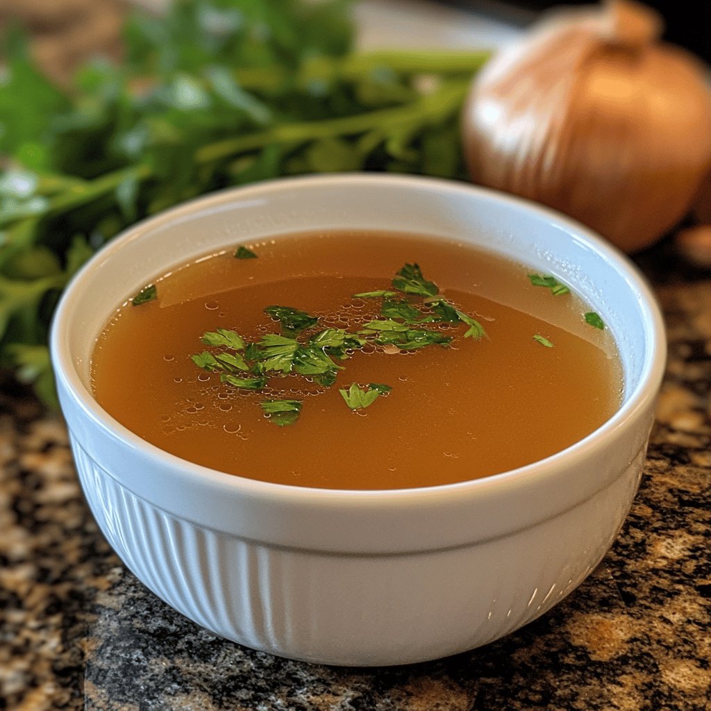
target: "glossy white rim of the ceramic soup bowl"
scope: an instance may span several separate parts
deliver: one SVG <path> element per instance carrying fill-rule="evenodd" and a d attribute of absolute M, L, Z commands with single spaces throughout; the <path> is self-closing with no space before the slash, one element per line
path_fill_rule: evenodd
<path fill-rule="evenodd" d="M 606 262 L 612 264 L 616 271 L 624 278 L 631 292 L 636 296 L 638 307 L 643 316 L 643 332 L 646 340 L 651 343 L 644 353 L 638 383 L 634 390 L 626 397 L 626 401 L 619 407 L 614 415 L 606 420 L 600 427 L 561 451 L 556 452 L 545 459 L 540 459 L 499 474 L 492 474 L 480 479 L 469 479 L 449 484 L 437 486 L 421 486 L 413 488 L 387 488 L 387 489 L 339 489 L 339 488 L 314 488 L 299 486 L 296 484 L 273 483 L 250 479 L 247 476 L 237 474 L 227 474 L 216 469 L 210 469 L 201 464 L 195 464 L 179 456 L 170 454 L 160 449 L 150 442 L 141 439 L 137 434 L 124 427 L 116 419 L 108 414 L 94 399 L 90 390 L 82 383 L 73 363 L 73 355 L 70 352 L 68 339 L 63 338 L 65 326 L 71 318 L 75 306 L 80 306 L 77 302 L 77 292 L 79 292 L 82 282 L 92 274 L 92 272 L 110 260 L 112 254 L 124 249 L 135 240 L 145 238 L 149 232 L 159 228 L 161 225 L 171 223 L 186 215 L 196 212 L 204 212 L 210 208 L 219 209 L 225 203 L 244 201 L 251 198 L 268 198 L 272 193 L 279 193 L 284 188 L 299 190 L 306 188 L 312 190 L 320 185 L 333 187 L 342 186 L 353 188 L 365 183 L 371 186 L 383 185 L 400 188 L 429 188 L 434 191 L 444 191 L 446 193 L 466 193 L 479 196 L 485 201 L 500 203 L 505 207 L 518 213 L 530 213 L 534 218 L 538 218 L 550 225 L 567 232 L 574 240 L 582 242 L 588 247 L 592 247 L 598 255 L 601 255 Z M 496 250 L 493 250 L 496 252 Z M 176 260 L 177 261 L 177 260 Z M 170 265 L 169 265 L 170 266 Z M 108 314 L 107 314 L 108 319 Z M 618 346 L 620 346 L 618 342 Z M 508 488 L 515 486 L 520 480 L 524 480 L 527 485 L 533 485 L 535 481 L 555 477 L 565 474 L 570 466 L 570 461 L 574 459 L 586 459 L 594 456 L 599 450 L 606 447 L 608 440 L 615 433 L 619 433 L 624 427 L 636 422 L 638 417 L 643 415 L 648 408 L 653 406 L 654 400 L 661 385 L 666 362 L 666 340 L 663 317 L 656 302 L 656 298 L 646 280 L 638 271 L 633 262 L 621 250 L 596 232 L 578 223 L 572 218 L 568 218 L 551 208 L 547 208 L 533 201 L 528 201 L 517 196 L 511 196 L 501 191 L 491 188 L 476 186 L 471 183 L 459 183 L 444 178 L 429 178 L 422 176 L 397 175 L 393 173 L 332 173 L 329 175 L 309 175 L 292 176 L 287 178 L 275 178 L 260 183 L 252 183 L 248 186 L 227 188 L 206 196 L 194 198 L 191 201 L 180 203 L 173 208 L 164 210 L 159 215 L 139 221 L 127 230 L 119 233 L 105 247 L 102 247 L 82 268 L 75 274 L 68 287 L 63 292 L 60 302 L 50 327 L 50 357 L 55 375 L 58 381 L 61 380 L 70 397 L 79 405 L 85 416 L 89 417 L 95 425 L 100 427 L 105 434 L 120 442 L 122 446 L 139 453 L 144 459 L 149 459 L 156 464 L 159 469 L 170 469 L 178 474 L 178 479 L 189 481 L 196 485 L 216 486 L 220 491 L 234 491 L 244 493 L 250 498 L 266 498 L 275 503 L 281 501 L 298 500 L 299 503 L 330 502 L 334 505 L 351 505 L 358 501 L 363 505 L 374 506 L 390 505 L 397 501 L 401 507 L 416 506 L 418 503 L 437 498 L 449 498 L 450 496 L 459 498 L 465 493 L 474 496 L 478 492 L 493 493 L 496 488 Z M 177 483 L 178 480 L 176 480 Z"/>

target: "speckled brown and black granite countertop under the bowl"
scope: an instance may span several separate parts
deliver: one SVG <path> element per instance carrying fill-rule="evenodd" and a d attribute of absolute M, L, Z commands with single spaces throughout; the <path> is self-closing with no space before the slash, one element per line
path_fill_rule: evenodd
<path fill-rule="evenodd" d="M 60 419 L 5 383 L 0 708 L 711 709 L 711 279 L 662 271 L 661 257 L 641 263 L 666 315 L 668 374 L 618 540 L 538 621 L 433 663 L 348 670 L 285 661 L 184 619 L 98 533 Z"/>

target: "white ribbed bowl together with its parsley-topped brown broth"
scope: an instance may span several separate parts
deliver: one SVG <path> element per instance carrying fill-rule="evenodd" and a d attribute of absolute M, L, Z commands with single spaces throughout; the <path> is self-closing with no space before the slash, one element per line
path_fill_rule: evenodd
<path fill-rule="evenodd" d="M 281 656 L 410 663 L 535 619 L 609 548 L 665 343 L 576 223 L 424 178 L 296 178 L 128 230 L 51 337 L 127 567 Z"/>

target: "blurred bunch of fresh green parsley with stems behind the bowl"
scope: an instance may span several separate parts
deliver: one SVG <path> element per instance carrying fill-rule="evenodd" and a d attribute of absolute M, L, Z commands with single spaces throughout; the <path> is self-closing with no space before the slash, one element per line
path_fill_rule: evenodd
<path fill-rule="evenodd" d="M 9 30 L 0 365 L 53 402 L 61 290 L 117 232 L 178 202 L 297 173 L 464 177 L 458 114 L 487 53 L 353 53 L 352 42 L 344 1 L 183 0 L 127 21 L 123 63 L 96 60 L 58 87 Z"/>

